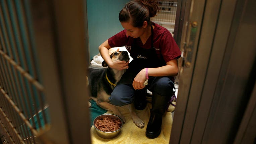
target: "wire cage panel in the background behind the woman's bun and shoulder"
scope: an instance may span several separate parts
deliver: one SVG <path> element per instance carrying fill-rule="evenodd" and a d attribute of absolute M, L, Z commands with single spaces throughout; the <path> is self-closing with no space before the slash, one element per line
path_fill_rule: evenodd
<path fill-rule="evenodd" d="M 174 32 L 176 11 L 177 11 L 177 1 L 158 1 L 159 3 L 159 13 L 151 18 L 151 21 L 167 28 L 171 33 Z"/>

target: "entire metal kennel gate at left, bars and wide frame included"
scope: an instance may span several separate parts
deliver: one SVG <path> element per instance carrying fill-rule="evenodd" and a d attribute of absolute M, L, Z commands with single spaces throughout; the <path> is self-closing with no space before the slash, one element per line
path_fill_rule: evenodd
<path fill-rule="evenodd" d="M 90 141 L 84 103 L 88 100 L 84 7 L 84 0 L 0 0 L 4 143 Z"/>

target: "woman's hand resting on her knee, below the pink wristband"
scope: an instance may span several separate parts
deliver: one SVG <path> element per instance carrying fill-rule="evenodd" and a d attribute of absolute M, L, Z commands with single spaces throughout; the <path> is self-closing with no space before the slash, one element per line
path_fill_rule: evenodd
<path fill-rule="evenodd" d="M 134 78 L 132 82 L 132 86 L 135 90 L 137 89 L 143 89 L 145 86 L 143 83 L 146 80 L 146 69 L 142 69 Z"/>

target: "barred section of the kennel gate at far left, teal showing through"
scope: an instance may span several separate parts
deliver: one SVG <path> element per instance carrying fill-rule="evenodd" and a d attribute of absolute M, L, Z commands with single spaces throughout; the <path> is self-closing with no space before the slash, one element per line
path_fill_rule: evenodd
<path fill-rule="evenodd" d="M 50 123 L 28 1 L 0 0 L 0 130 L 9 143 L 36 143 Z"/>

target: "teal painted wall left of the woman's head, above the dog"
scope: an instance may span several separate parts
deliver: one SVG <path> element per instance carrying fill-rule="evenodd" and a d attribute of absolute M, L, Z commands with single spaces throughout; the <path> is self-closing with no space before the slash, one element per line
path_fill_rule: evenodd
<path fill-rule="evenodd" d="M 129 0 L 87 0 L 87 21 L 90 59 L 99 53 L 99 46 L 123 30 L 118 14 Z"/>

